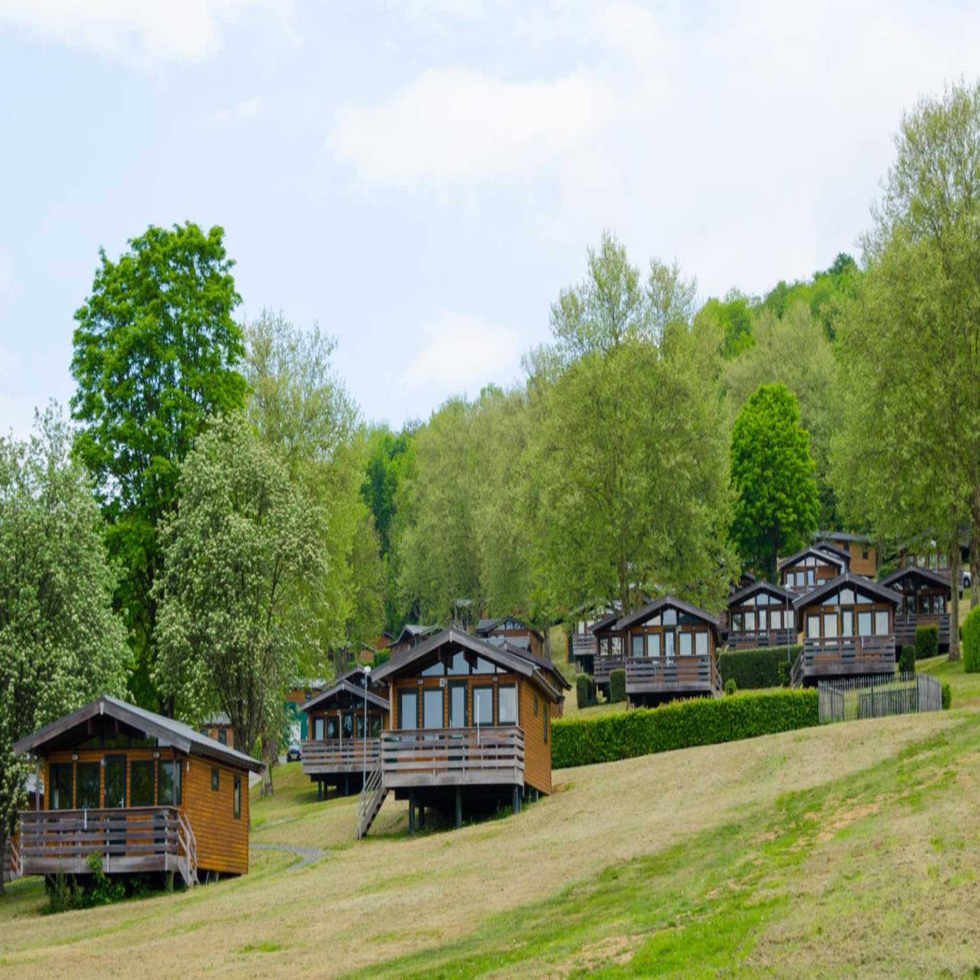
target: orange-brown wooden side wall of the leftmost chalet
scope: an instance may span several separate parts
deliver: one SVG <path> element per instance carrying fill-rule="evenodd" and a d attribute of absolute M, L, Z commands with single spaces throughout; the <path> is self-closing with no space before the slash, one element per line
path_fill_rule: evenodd
<path fill-rule="evenodd" d="M 211 770 L 217 767 L 217 792 Z M 234 815 L 234 777 L 241 779 L 241 816 Z M 248 772 L 195 757 L 184 764 L 183 809 L 197 838 L 198 867 L 221 874 L 248 873 Z"/>

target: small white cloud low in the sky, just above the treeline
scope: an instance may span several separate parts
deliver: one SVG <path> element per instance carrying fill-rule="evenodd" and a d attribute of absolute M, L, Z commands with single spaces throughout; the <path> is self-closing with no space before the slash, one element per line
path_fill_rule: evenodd
<path fill-rule="evenodd" d="M 450 393 L 476 394 L 490 381 L 506 383 L 520 367 L 521 340 L 516 330 L 493 326 L 462 313 L 442 314 L 423 334 L 400 385 L 424 389 L 439 402 Z"/>

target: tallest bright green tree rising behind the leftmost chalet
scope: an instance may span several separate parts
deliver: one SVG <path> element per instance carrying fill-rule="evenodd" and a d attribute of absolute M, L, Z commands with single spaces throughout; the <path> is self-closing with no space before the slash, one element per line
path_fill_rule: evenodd
<path fill-rule="evenodd" d="M 119 261 L 99 252 L 74 315 L 75 452 L 95 479 L 106 540 L 123 568 L 117 603 L 132 643 L 129 689 L 172 711 L 152 681 L 158 528 L 176 506 L 181 461 L 213 413 L 240 408 L 244 348 L 224 232 L 150 226 Z"/>

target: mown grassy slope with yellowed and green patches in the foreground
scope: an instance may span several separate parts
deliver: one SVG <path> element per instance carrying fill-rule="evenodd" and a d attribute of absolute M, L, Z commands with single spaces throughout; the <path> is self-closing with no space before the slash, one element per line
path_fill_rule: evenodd
<path fill-rule="evenodd" d="M 980 697 L 947 679 L 956 705 Z M 57 916 L 21 882 L 0 968 L 165 976 L 192 950 L 219 975 L 959 975 L 980 964 L 978 760 L 980 712 L 837 725 L 566 770 L 517 817 L 412 841 L 389 801 L 359 845 L 354 802 L 317 805 L 287 766 L 253 840 L 318 864 L 253 852 L 237 881 Z"/>

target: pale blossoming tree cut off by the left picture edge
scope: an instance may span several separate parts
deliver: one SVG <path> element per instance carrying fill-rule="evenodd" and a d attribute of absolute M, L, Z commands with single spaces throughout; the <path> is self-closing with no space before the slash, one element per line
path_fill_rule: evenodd
<path fill-rule="evenodd" d="M 102 691 L 125 690 L 116 576 L 70 447 L 53 409 L 29 441 L 0 437 L 0 854 L 25 804 L 27 765 L 14 743 Z"/>

